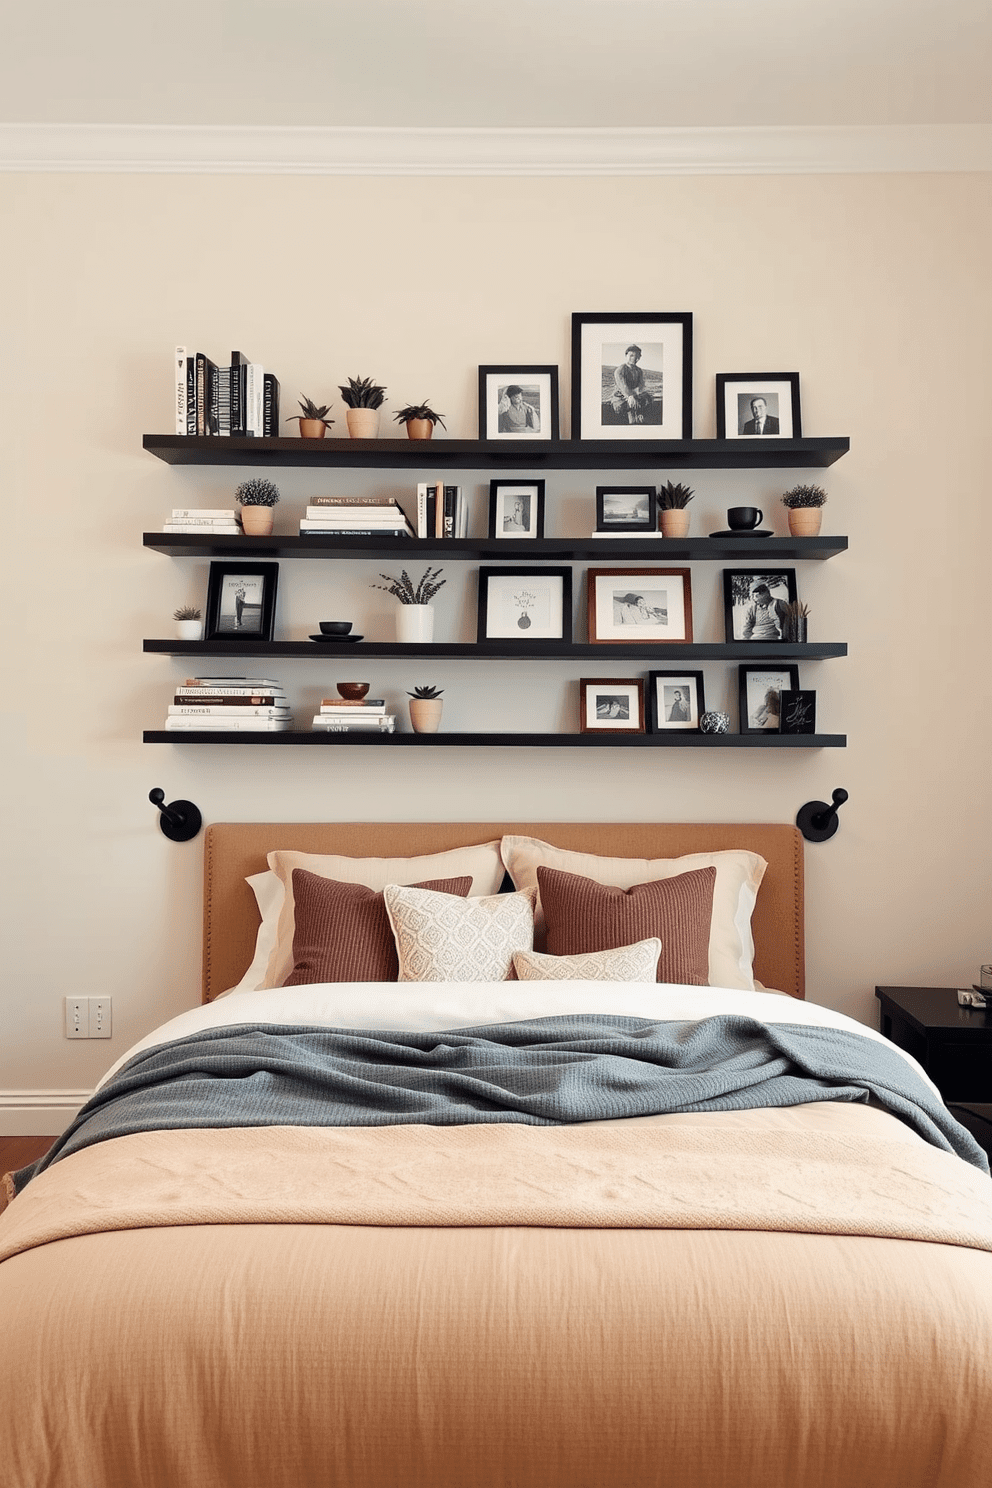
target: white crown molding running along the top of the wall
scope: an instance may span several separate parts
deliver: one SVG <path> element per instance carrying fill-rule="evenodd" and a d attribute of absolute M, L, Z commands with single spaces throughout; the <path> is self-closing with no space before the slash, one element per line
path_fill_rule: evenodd
<path fill-rule="evenodd" d="M 0 171 L 180 176 L 992 171 L 992 125 L 394 129 L 0 124 Z"/>

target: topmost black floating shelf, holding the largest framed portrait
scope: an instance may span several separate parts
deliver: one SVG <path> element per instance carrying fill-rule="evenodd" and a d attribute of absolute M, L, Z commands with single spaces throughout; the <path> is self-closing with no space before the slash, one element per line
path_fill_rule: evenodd
<path fill-rule="evenodd" d="M 394 470 L 809 470 L 851 448 L 830 439 L 220 439 L 144 434 L 167 464 Z"/>

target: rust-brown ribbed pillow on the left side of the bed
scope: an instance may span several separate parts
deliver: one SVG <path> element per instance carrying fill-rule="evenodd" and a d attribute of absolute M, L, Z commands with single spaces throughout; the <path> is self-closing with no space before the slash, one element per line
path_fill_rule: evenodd
<path fill-rule="evenodd" d="M 471 875 L 434 878 L 416 888 L 466 897 Z M 382 893 L 293 869 L 293 970 L 284 987 L 306 982 L 396 982 L 400 964 Z"/>

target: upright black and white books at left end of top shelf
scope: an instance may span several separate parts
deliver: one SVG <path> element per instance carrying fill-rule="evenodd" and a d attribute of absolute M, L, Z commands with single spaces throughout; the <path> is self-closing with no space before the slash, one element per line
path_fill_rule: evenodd
<path fill-rule="evenodd" d="M 280 432 L 280 382 L 242 351 L 219 366 L 202 351 L 173 354 L 177 434 L 274 437 Z"/>

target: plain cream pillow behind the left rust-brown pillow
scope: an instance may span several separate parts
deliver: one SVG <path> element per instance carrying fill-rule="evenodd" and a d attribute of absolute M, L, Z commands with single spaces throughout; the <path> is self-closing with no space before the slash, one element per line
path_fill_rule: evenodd
<path fill-rule="evenodd" d="M 303 868 L 320 878 L 333 878 L 339 884 L 363 884 L 376 893 L 387 884 L 422 884 L 433 878 L 468 875 L 468 893 L 495 894 L 503 882 L 503 860 L 495 841 L 455 847 L 446 853 L 422 853 L 419 857 L 342 857 L 341 853 L 293 853 L 280 848 L 268 854 L 268 865 L 283 885 L 283 903 L 262 987 L 283 987 L 293 972 L 294 868 Z"/>

